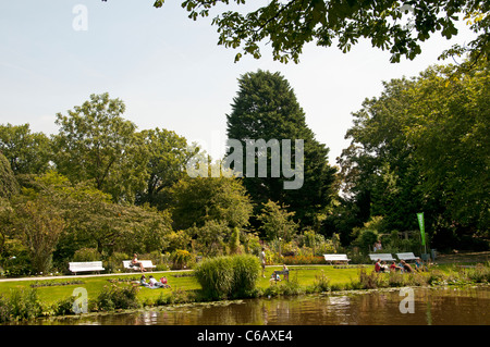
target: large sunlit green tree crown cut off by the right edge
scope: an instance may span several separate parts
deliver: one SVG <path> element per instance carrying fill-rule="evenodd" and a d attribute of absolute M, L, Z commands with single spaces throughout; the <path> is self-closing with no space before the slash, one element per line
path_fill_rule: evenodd
<path fill-rule="evenodd" d="M 455 75 L 456 67 L 434 66 L 422 73 L 406 128 L 415 160 L 424 172 L 422 188 L 439 196 L 453 221 L 475 230 L 490 223 L 489 63 Z"/>

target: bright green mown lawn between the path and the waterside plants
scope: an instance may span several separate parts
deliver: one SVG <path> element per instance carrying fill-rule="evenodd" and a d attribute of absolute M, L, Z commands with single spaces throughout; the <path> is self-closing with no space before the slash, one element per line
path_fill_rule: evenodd
<path fill-rule="evenodd" d="M 370 269 L 370 268 L 368 268 Z M 260 277 L 258 280 L 257 286 L 261 288 L 267 288 L 271 285 L 270 275 L 274 270 L 282 270 L 282 267 L 267 267 L 266 277 Z M 302 287 L 307 287 L 314 284 L 316 276 L 323 273 L 331 284 L 345 284 L 350 283 L 351 280 L 358 277 L 359 269 L 357 267 L 348 267 L 346 269 L 338 269 L 331 265 L 291 265 L 290 267 L 290 281 L 297 281 Z M 163 289 L 149 289 L 140 287 L 138 292 L 138 298 L 142 301 L 155 300 L 162 293 L 171 294 L 173 290 L 195 290 L 200 289 L 200 285 L 196 277 L 189 275 L 192 272 L 179 272 L 179 271 L 163 271 L 163 272 L 150 272 L 148 275 L 152 274 L 155 278 L 160 280 L 160 277 L 166 276 L 168 278 L 171 288 Z M 33 284 L 53 284 L 53 283 L 66 283 L 71 281 L 81 281 L 83 283 L 69 284 L 69 285 L 50 285 L 50 286 L 39 286 L 37 287 L 37 293 L 39 299 L 44 303 L 54 303 L 61 299 L 65 299 L 72 296 L 73 290 L 77 287 L 84 287 L 87 290 L 88 298 L 95 298 L 103 289 L 105 286 L 112 285 L 111 281 L 114 280 L 130 280 L 134 278 L 137 281 L 140 277 L 139 273 L 131 274 L 110 274 L 110 275 L 94 275 L 94 276 L 66 276 L 63 278 L 53 277 L 52 280 L 28 280 L 28 281 L 1 281 L 0 282 L 0 295 L 9 296 L 11 289 L 27 289 L 30 288 Z M 282 276 L 281 276 L 282 278 Z M 119 282 L 123 283 L 123 282 Z"/>

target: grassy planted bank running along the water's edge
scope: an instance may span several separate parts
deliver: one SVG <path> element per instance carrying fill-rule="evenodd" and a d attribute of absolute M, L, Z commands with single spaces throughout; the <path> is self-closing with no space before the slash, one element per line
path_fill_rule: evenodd
<path fill-rule="evenodd" d="M 461 267 L 439 264 L 430 271 L 400 274 L 375 273 L 372 265 L 295 265 L 290 267 L 290 278 L 274 283 L 269 275 L 281 267 L 268 267 L 266 277 L 259 277 L 248 298 L 287 297 L 313 293 L 381 289 L 404 286 L 466 285 L 489 283 L 490 267 Z M 152 308 L 174 303 L 203 302 L 200 285 L 193 271 L 163 271 L 147 273 L 157 280 L 166 276 L 171 288 L 150 289 L 137 285 L 140 276 L 132 274 L 77 275 L 10 280 L 0 282 L 0 318 L 7 307 L 35 308 L 29 312 L 3 312 L 3 321 L 73 314 L 73 302 L 79 288 L 86 294 L 90 314 L 122 312 L 125 309 Z M 76 292 L 78 290 L 78 292 Z M 30 294 L 29 294 L 30 293 Z M 35 295 L 33 294 L 35 293 Z M 102 295 L 103 294 L 103 295 Z M 229 298 L 236 299 L 236 298 Z M 24 302 L 25 301 L 25 302 Z M 3 305 L 2 305 L 3 302 Z M 108 305 L 108 302 L 110 305 Z M 115 303 L 114 303 L 115 302 Z M 119 302 L 119 303 L 118 303 Z M 123 302 L 123 303 L 120 303 Z M 3 307 L 2 307 L 3 306 Z M 22 314 L 27 314 L 24 317 Z M 30 315 L 29 315 L 30 314 Z"/>

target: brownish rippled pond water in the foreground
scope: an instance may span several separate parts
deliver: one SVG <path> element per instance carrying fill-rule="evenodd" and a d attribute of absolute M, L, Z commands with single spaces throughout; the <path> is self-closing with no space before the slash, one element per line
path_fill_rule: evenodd
<path fill-rule="evenodd" d="M 34 324 L 490 325 L 489 308 L 490 286 L 416 287 L 182 305 Z"/>

